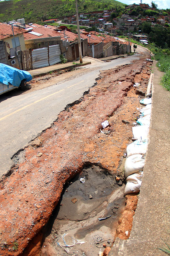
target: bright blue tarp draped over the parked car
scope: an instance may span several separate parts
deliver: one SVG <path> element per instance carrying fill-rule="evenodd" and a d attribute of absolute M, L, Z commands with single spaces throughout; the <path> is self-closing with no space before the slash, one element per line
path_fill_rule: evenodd
<path fill-rule="evenodd" d="M 32 76 L 29 72 L 19 70 L 11 66 L 0 63 L 0 82 L 8 85 L 19 86 L 21 81 L 25 79 L 26 82 L 32 80 Z"/>

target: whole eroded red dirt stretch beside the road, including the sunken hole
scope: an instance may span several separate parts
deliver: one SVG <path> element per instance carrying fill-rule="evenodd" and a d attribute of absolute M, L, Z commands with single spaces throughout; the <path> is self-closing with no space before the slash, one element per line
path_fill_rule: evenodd
<path fill-rule="evenodd" d="M 137 196 L 123 197 L 122 161 L 147 88 L 148 57 L 103 71 L 82 99 L 15 155 L 0 183 L 0 255 L 97 255 L 97 243 L 129 237 Z M 133 84 L 139 82 L 137 92 Z M 102 130 L 106 119 L 109 127 Z"/>

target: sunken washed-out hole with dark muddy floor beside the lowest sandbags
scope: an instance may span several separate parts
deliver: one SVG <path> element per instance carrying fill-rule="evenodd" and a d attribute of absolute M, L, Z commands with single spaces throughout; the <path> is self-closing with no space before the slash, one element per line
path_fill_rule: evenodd
<path fill-rule="evenodd" d="M 66 186 L 44 229 L 41 256 L 46 255 L 47 247 L 55 252 L 51 256 L 95 256 L 103 243 L 111 245 L 125 202 L 123 192 L 124 185 L 116 183 L 115 175 L 99 167 L 84 169 Z"/>

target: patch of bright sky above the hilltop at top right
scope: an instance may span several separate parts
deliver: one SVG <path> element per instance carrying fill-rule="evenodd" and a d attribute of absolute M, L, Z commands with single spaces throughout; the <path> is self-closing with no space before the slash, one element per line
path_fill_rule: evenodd
<path fill-rule="evenodd" d="M 122 3 L 125 3 L 125 4 L 133 4 L 133 3 L 136 3 L 136 4 L 139 4 L 140 3 L 140 0 L 118 0 Z M 149 5 L 151 5 L 151 2 L 152 0 L 142 0 L 142 3 L 148 3 Z M 158 5 L 158 9 L 170 9 L 170 1 L 169 0 L 155 0 L 153 1 L 155 2 L 157 5 Z"/>

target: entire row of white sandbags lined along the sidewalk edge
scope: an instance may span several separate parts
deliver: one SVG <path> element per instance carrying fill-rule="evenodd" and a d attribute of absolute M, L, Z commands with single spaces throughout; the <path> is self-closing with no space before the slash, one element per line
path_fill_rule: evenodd
<path fill-rule="evenodd" d="M 151 98 L 140 100 L 140 103 L 145 105 L 145 107 L 140 109 L 140 117 L 136 122 L 137 126 L 132 127 L 133 137 L 136 140 L 126 148 L 127 158 L 124 164 L 124 177 L 126 179 L 125 195 L 140 191 L 148 145 L 151 102 Z"/>

